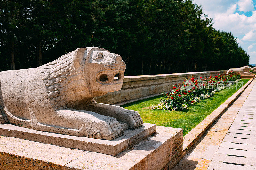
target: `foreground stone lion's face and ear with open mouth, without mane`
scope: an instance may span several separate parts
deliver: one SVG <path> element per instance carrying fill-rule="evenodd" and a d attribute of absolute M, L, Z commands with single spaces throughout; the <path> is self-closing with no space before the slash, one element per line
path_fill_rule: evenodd
<path fill-rule="evenodd" d="M 113 92 L 122 88 L 126 65 L 120 55 L 98 47 L 78 48 L 76 51 L 74 65 L 83 69 L 90 93 Z"/>

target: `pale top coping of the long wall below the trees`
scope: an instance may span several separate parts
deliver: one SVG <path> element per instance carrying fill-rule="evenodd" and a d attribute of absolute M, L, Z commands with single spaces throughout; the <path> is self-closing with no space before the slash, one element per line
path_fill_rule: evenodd
<path fill-rule="evenodd" d="M 140 76 L 124 76 L 123 82 L 141 81 L 141 80 L 154 80 L 161 78 L 173 78 L 173 77 L 184 77 L 191 76 L 192 74 L 220 74 L 226 72 L 221 71 L 202 71 L 202 72 L 187 72 L 187 73 L 172 73 L 172 74 L 155 74 L 155 75 L 140 75 Z"/>

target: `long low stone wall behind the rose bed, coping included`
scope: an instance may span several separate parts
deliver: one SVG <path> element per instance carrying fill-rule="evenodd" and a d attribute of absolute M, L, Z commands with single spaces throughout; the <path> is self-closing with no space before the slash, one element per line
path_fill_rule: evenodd
<path fill-rule="evenodd" d="M 194 74 L 195 78 L 215 76 L 226 71 L 205 71 L 174 74 L 158 74 L 143 76 L 124 76 L 122 89 L 116 92 L 108 92 L 107 95 L 96 97 L 100 103 L 116 104 L 129 100 L 135 100 L 146 96 L 160 94 L 169 91 L 175 83 L 181 83 L 186 77 Z"/>

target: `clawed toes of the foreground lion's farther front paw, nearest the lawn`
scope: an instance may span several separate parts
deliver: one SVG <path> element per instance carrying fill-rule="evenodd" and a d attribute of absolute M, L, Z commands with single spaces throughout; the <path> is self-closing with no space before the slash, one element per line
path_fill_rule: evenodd
<path fill-rule="evenodd" d="M 142 126 L 143 120 L 141 119 L 139 112 L 134 110 L 125 110 L 123 114 L 128 117 L 126 122 L 130 129 L 137 129 Z"/>

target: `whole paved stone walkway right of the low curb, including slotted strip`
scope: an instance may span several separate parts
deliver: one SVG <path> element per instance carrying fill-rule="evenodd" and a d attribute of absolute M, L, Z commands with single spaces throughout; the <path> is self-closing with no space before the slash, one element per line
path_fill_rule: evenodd
<path fill-rule="evenodd" d="M 256 80 L 209 128 L 175 170 L 256 170 Z"/>

